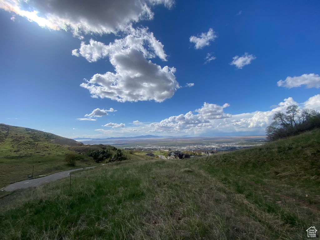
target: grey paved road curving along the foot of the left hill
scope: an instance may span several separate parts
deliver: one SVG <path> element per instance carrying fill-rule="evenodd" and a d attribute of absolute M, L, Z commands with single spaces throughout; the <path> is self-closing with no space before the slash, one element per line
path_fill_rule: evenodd
<path fill-rule="evenodd" d="M 94 167 L 96 167 L 96 166 L 86 167 L 86 169 L 87 168 L 94 168 Z M 25 180 L 25 181 L 21 181 L 21 182 L 12 183 L 12 184 L 6 186 L 4 188 L 4 191 L 11 192 L 11 191 L 21 189 L 21 188 L 36 187 L 36 186 L 39 186 L 40 184 L 45 183 L 45 182 L 56 181 L 58 179 L 68 177 L 68 174 L 70 172 L 74 172 L 74 171 L 81 170 L 81 169 L 83 169 L 83 168 L 77 168 L 77 169 L 67 170 L 67 171 L 63 171 L 63 172 L 57 172 L 57 173 L 53 173 L 49 176 L 45 176 L 43 178 L 29 179 L 29 180 Z"/>

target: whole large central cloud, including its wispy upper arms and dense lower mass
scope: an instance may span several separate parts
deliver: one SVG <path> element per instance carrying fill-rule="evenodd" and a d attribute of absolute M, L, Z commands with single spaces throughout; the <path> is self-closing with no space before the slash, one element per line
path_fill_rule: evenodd
<path fill-rule="evenodd" d="M 90 40 L 81 43 L 79 53 L 89 62 L 109 57 L 115 73 L 95 74 L 80 86 L 89 90 L 93 98 L 109 98 L 119 102 L 155 100 L 162 102 L 171 98 L 179 83 L 174 76 L 175 68 L 152 63 L 147 58 L 158 56 L 166 60 L 163 45 L 156 40 L 148 28 L 131 28 L 130 34 L 105 45 Z"/>

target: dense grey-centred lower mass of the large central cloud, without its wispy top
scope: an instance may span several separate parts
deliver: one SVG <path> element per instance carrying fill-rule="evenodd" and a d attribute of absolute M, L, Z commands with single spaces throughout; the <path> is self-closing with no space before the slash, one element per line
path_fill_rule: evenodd
<path fill-rule="evenodd" d="M 175 68 L 148 61 L 143 53 L 128 49 L 110 56 L 116 73 L 95 74 L 80 86 L 89 90 L 94 98 L 109 98 L 119 102 L 171 98 L 178 88 Z"/>

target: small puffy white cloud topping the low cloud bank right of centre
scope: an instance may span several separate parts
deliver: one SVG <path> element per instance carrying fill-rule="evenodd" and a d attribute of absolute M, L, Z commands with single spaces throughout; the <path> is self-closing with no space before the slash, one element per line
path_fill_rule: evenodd
<path fill-rule="evenodd" d="M 196 109 L 196 112 L 202 115 L 204 119 L 220 119 L 231 117 L 231 114 L 223 112 L 223 108 L 229 107 L 230 104 L 225 103 L 223 106 L 204 102 L 202 108 Z"/>

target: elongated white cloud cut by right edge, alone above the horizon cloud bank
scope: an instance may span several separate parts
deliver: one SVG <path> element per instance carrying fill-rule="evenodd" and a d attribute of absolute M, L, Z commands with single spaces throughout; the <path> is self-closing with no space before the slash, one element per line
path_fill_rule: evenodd
<path fill-rule="evenodd" d="M 277 82 L 278 87 L 300 87 L 306 85 L 306 88 L 319 88 L 320 87 L 320 76 L 318 74 L 302 74 L 301 76 L 287 77 L 284 81 L 280 80 Z"/>

